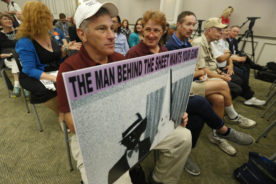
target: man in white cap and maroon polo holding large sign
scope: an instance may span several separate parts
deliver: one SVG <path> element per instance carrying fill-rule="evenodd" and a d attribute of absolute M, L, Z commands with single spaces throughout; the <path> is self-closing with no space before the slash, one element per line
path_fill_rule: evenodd
<path fill-rule="evenodd" d="M 75 53 L 60 65 L 57 75 L 57 94 L 60 111 L 64 112 L 66 123 L 72 133 L 76 132 L 65 92 L 62 72 L 126 59 L 122 54 L 114 52 L 114 24 L 112 18 L 117 15 L 117 6 L 110 2 L 101 4 L 97 1 L 87 1 L 79 5 L 76 10 L 77 34 L 82 40 L 83 46 L 78 53 Z M 187 113 L 182 119 L 182 126 L 177 127 L 173 133 L 170 133 L 155 147 L 155 149 L 161 150 L 159 159 L 156 162 L 154 176 L 160 182 L 172 184 L 178 182 L 185 160 L 191 150 L 191 133 L 184 128 L 187 124 Z M 168 146 L 171 144 L 174 146 Z M 83 182 L 88 183 L 76 135 L 72 136 L 71 149 L 74 159 L 77 160 L 77 167 L 81 172 Z M 179 167 L 176 168 L 176 165 Z M 113 182 L 117 184 L 131 184 L 128 171 L 122 177 L 119 177 Z"/>

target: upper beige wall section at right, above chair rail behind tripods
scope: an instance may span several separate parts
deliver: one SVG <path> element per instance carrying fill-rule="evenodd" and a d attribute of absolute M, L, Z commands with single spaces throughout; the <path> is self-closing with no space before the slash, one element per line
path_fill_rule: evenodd
<path fill-rule="evenodd" d="M 182 10 L 194 12 L 198 20 L 207 20 L 211 17 L 221 17 L 222 12 L 228 6 L 234 8 L 230 17 L 231 25 L 241 26 L 247 21 L 246 17 L 261 17 L 254 24 L 254 34 L 276 36 L 276 21 L 274 20 L 275 0 L 185 0 L 183 1 Z M 241 28 L 240 32 L 245 32 L 248 29 L 249 22 Z"/>

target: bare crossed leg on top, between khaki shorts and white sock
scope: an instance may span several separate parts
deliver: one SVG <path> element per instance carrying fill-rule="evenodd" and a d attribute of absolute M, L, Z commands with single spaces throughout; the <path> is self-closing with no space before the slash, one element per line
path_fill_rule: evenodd
<path fill-rule="evenodd" d="M 229 86 L 226 81 L 222 81 L 222 80 L 207 81 L 206 89 L 205 89 L 206 99 L 209 101 L 209 99 L 207 97 L 212 94 L 216 94 L 216 93 L 220 94 L 224 97 L 223 108 L 231 106 L 232 99 L 231 99 L 231 95 L 230 95 Z"/>

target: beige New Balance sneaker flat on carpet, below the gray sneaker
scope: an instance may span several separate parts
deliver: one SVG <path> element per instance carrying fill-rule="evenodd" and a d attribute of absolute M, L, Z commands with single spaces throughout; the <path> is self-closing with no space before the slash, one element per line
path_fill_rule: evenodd
<path fill-rule="evenodd" d="M 221 137 L 214 136 L 213 132 L 211 132 L 207 138 L 212 143 L 217 144 L 225 153 L 228 153 L 229 155 L 235 155 L 237 152 L 235 148 L 231 146 L 225 139 L 222 139 Z"/>

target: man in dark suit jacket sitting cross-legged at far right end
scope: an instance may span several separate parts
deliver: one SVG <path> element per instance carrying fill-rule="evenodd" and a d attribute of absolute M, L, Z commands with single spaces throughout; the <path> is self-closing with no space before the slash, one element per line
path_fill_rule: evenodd
<path fill-rule="evenodd" d="M 265 71 L 268 69 L 267 66 L 260 66 L 258 64 L 255 64 L 246 54 L 242 54 L 238 50 L 238 42 L 237 35 L 239 34 L 239 26 L 233 26 L 230 31 L 229 38 L 226 39 L 226 41 L 229 43 L 229 50 L 232 52 L 232 60 L 238 62 L 238 64 L 241 64 L 246 67 L 247 69 L 247 77 L 249 79 L 250 74 L 250 68 L 260 71 Z"/>

